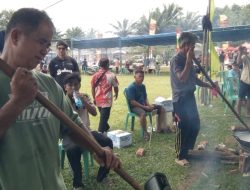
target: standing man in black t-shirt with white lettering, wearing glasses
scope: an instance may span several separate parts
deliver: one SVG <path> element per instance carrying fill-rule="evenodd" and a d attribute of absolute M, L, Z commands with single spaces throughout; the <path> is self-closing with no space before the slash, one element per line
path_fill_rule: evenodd
<path fill-rule="evenodd" d="M 50 61 L 49 73 L 63 88 L 63 80 L 67 73 L 80 72 L 74 58 L 67 55 L 68 44 L 59 40 L 56 44 L 57 56 Z"/>

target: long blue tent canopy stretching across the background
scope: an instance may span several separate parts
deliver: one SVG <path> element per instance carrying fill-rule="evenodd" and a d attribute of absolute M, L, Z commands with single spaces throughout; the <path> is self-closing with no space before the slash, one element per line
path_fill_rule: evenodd
<path fill-rule="evenodd" d="M 203 38 L 202 30 L 190 31 L 200 40 Z M 213 42 L 250 40 L 250 25 L 215 28 L 212 31 Z M 76 49 L 115 48 L 131 46 L 156 46 L 176 44 L 176 33 L 161 33 L 155 35 L 141 35 L 134 37 L 115 37 L 92 40 L 72 40 L 72 47 Z"/>

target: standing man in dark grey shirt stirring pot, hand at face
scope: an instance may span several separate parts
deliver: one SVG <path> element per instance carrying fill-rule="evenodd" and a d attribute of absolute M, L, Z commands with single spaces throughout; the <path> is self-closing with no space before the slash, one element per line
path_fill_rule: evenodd
<path fill-rule="evenodd" d="M 177 164 L 188 165 L 188 150 L 193 149 L 200 130 L 200 118 L 195 101 L 195 86 L 212 88 L 196 77 L 193 67 L 196 36 L 183 32 L 179 38 L 179 51 L 170 62 L 170 76 L 174 112 L 178 118 L 176 132 Z"/>

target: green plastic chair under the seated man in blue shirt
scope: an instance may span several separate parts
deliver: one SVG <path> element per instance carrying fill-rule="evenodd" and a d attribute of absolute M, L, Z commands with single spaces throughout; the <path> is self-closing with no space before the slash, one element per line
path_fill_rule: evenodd
<path fill-rule="evenodd" d="M 124 89 L 123 94 L 125 96 L 127 107 L 128 107 L 128 112 L 127 112 L 126 120 L 125 120 L 125 130 L 128 129 L 128 120 L 129 120 L 129 117 L 131 117 L 131 131 L 133 131 L 134 124 L 135 124 L 135 117 L 139 117 L 139 116 L 137 114 L 133 113 L 130 109 L 129 100 L 127 98 L 127 88 Z M 153 121 L 152 121 L 153 114 L 152 114 L 152 112 L 146 112 L 146 117 L 147 116 L 149 117 L 151 129 L 153 130 Z M 141 137 L 144 138 L 144 129 L 142 127 L 141 127 Z"/>

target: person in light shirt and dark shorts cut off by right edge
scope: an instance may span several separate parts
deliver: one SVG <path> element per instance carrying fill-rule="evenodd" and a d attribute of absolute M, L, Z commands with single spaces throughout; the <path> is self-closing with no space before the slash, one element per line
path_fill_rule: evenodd
<path fill-rule="evenodd" d="M 247 97 L 247 113 L 246 117 L 250 117 L 250 56 L 247 53 L 246 47 L 239 47 L 237 57 L 238 65 L 243 64 L 243 69 L 240 77 L 239 100 L 237 102 L 237 111 L 241 114 L 241 106 Z"/>

